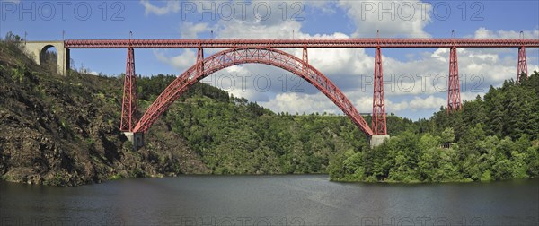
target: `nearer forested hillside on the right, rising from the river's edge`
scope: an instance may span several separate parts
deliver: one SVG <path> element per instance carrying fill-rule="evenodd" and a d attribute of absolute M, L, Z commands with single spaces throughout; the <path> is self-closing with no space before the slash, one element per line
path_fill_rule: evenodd
<path fill-rule="evenodd" d="M 331 161 L 342 181 L 431 182 L 539 176 L 539 73 L 490 87 L 463 110 L 419 120 L 375 149 Z"/>

